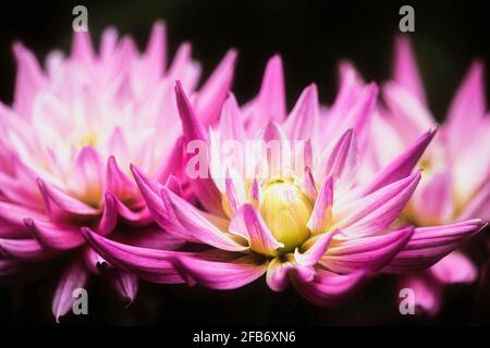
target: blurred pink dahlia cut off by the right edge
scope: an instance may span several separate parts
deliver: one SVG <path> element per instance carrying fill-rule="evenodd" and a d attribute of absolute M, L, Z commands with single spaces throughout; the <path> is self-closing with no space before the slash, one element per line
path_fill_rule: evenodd
<path fill-rule="evenodd" d="M 385 85 L 383 97 L 387 108 L 373 117 L 371 130 L 370 164 L 375 172 L 427 128 L 439 127 L 418 163 L 424 175 L 402 219 L 415 226 L 490 219 L 490 151 L 486 150 L 490 148 L 490 116 L 486 115 L 482 64 L 471 65 L 445 122 L 438 125 L 429 111 L 409 41 L 400 37 L 393 79 Z M 444 285 L 471 283 L 476 276 L 471 261 L 455 251 L 428 271 L 403 277 L 400 286 L 416 289 L 417 303 L 436 313 Z"/>

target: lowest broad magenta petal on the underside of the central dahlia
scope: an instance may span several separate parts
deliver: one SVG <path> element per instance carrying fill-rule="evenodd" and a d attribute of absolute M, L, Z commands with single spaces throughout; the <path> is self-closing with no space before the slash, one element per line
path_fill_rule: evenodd
<path fill-rule="evenodd" d="M 340 275 L 318 270 L 311 282 L 293 276 L 294 288 L 308 301 L 322 307 L 339 306 L 353 295 L 364 278 L 363 272 Z"/>

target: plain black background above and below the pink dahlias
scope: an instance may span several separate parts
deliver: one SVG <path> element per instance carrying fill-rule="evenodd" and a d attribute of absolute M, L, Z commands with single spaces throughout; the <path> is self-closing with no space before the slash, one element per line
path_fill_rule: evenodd
<path fill-rule="evenodd" d="M 448 104 L 471 60 L 490 63 L 490 1 L 60 1 L 0 2 L 0 100 L 10 103 L 15 65 L 14 40 L 22 40 L 44 59 L 54 48 L 68 51 L 72 36 L 72 9 L 88 8 L 89 29 L 98 42 L 110 25 L 135 37 L 144 47 L 152 23 L 168 25 L 170 53 L 179 44 L 193 44 L 194 58 L 205 76 L 230 47 L 240 51 L 234 90 L 244 102 L 258 90 L 267 59 L 281 53 L 286 72 L 290 105 L 310 82 L 322 102 L 336 90 L 336 64 L 355 63 L 370 80 L 385 80 L 391 72 L 392 44 L 399 33 L 399 9 L 415 8 L 416 32 L 411 34 L 431 110 L 443 117 Z M 487 80 L 489 73 L 487 72 Z M 481 260 L 486 256 L 480 256 Z M 48 270 L 47 270 L 48 271 Z M 49 270 L 51 271 L 51 270 Z M 52 270 L 56 272 L 56 270 Z M 142 286 L 136 302 L 124 310 L 110 289 L 93 278 L 90 315 L 66 318 L 64 323 L 223 323 L 223 324 L 380 324 L 490 322 L 489 304 L 478 289 L 456 287 L 448 295 L 444 311 L 434 319 L 402 318 L 393 302 L 392 278 L 369 285 L 357 301 L 338 310 L 317 309 L 294 291 L 274 295 L 264 281 L 235 291 L 200 287 Z M 0 322 L 46 323 L 53 284 L 38 282 L 11 291 L 0 289 Z M 487 288 L 487 294 L 489 289 Z M 487 296 L 488 297 L 488 296 Z"/>

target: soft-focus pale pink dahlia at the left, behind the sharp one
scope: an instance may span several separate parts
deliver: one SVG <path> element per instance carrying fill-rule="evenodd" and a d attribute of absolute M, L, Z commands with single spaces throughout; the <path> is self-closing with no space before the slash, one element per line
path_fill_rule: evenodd
<path fill-rule="evenodd" d="M 57 320 L 90 273 L 105 273 L 130 301 L 137 290 L 134 274 L 86 245 L 82 226 L 136 246 L 182 244 L 152 222 L 130 163 L 167 181 L 179 162 L 175 79 L 193 92 L 200 121 L 211 124 L 226 96 L 235 52 L 197 90 L 200 67 L 191 46 L 182 45 L 167 67 L 164 32 L 157 23 L 143 53 L 113 28 L 103 33 L 98 52 L 87 33 L 75 33 L 71 54 L 50 53 L 46 70 L 14 45 L 14 100 L 12 107 L 0 104 L 0 276 L 65 261 L 52 300 Z"/>

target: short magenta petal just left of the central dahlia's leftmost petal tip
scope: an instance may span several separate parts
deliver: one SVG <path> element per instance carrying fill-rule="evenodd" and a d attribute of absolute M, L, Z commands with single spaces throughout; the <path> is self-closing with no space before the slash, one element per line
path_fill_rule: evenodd
<path fill-rule="evenodd" d="M 84 238 L 79 235 L 78 228 L 58 226 L 50 222 L 25 219 L 25 225 L 34 237 L 48 248 L 69 250 L 81 246 Z"/>

